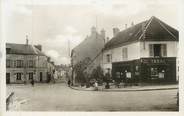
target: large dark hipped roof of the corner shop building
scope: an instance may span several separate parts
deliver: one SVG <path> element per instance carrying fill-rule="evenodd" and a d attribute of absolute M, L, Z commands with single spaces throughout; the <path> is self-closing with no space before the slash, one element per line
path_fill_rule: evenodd
<path fill-rule="evenodd" d="M 145 33 L 145 34 L 143 34 Z M 179 32 L 156 17 L 131 26 L 113 37 L 105 49 L 136 41 L 178 41 Z"/>

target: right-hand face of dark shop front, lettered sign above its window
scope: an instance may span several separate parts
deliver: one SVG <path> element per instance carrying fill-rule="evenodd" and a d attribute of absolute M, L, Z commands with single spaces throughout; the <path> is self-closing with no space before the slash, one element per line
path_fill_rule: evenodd
<path fill-rule="evenodd" d="M 141 76 L 146 82 L 176 82 L 176 58 L 142 58 Z"/>

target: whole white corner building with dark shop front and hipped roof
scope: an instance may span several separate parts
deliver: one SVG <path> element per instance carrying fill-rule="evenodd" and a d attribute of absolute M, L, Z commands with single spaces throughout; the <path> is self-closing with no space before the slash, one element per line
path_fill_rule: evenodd
<path fill-rule="evenodd" d="M 178 31 L 156 17 L 123 31 L 103 50 L 104 72 L 123 82 L 176 82 Z M 117 33 L 118 32 L 118 33 Z"/>

